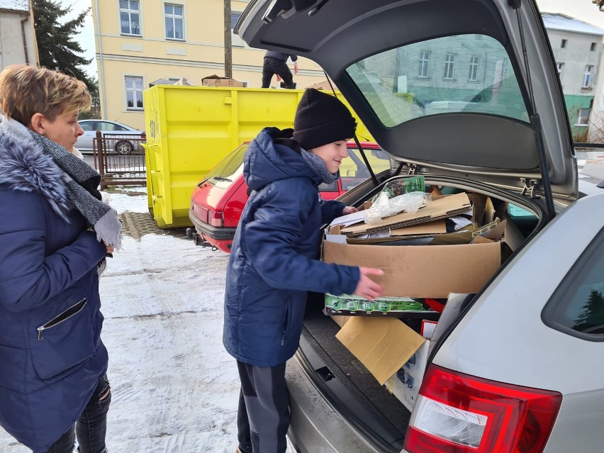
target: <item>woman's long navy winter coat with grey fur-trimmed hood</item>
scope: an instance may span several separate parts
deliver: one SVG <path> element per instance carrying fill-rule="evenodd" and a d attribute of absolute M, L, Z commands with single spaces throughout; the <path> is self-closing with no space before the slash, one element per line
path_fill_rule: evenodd
<path fill-rule="evenodd" d="M 106 247 L 35 142 L 0 135 L 0 425 L 46 452 L 107 369 L 96 267 Z M 63 199 L 62 201 L 65 201 Z"/>

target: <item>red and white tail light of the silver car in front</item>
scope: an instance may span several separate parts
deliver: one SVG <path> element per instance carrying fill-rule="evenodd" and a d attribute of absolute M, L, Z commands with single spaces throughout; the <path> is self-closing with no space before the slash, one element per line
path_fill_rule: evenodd
<path fill-rule="evenodd" d="M 409 453 L 542 452 L 558 392 L 488 381 L 431 365 L 411 417 Z"/>

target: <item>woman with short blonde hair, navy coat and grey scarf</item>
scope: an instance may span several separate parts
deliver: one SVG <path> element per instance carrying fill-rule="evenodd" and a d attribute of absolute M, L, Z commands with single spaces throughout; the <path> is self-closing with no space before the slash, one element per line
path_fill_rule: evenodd
<path fill-rule="evenodd" d="M 121 222 L 76 157 L 86 86 L 0 74 L 0 425 L 35 453 L 104 453 L 111 393 L 99 274 Z"/>

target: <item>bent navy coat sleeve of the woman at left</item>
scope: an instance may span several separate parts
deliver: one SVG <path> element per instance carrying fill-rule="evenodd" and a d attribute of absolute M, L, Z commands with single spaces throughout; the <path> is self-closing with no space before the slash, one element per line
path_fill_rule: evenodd
<path fill-rule="evenodd" d="M 81 279 L 99 264 L 107 248 L 96 240 L 96 233 L 84 231 L 71 244 L 46 256 L 46 223 L 39 196 L 11 195 L 0 197 L 0 214 L 11 219 L 0 223 L 0 303 L 18 312 L 42 305 Z"/>

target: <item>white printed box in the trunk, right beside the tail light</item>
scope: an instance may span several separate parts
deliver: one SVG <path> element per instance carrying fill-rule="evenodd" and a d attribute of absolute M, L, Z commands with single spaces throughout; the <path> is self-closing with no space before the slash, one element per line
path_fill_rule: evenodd
<path fill-rule="evenodd" d="M 408 410 L 413 410 L 422 385 L 430 342 L 424 340 L 410 359 L 384 385 Z"/>

